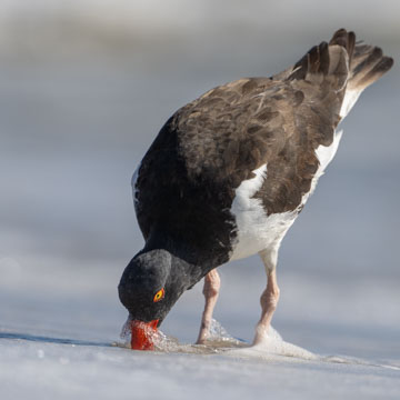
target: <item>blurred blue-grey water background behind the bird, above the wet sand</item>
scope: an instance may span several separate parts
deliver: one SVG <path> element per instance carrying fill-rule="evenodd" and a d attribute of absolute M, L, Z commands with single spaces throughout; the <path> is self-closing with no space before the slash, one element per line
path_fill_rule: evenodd
<path fill-rule="evenodd" d="M 283 241 L 273 324 L 322 353 L 400 360 L 400 3 L 3 0 L 0 4 L 0 331 L 116 340 L 117 286 L 141 249 L 136 166 L 163 122 L 218 84 L 270 76 L 338 28 L 393 69 L 342 123 L 338 154 Z M 216 318 L 251 340 L 266 277 L 220 268 Z M 201 284 L 163 324 L 193 342 Z"/>

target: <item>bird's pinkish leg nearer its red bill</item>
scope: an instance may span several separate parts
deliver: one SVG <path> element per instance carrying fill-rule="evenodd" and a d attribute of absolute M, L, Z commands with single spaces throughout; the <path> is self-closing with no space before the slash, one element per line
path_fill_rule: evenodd
<path fill-rule="evenodd" d="M 217 272 L 217 269 L 213 269 L 204 277 L 203 294 L 206 298 L 206 306 L 201 318 L 201 327 L 198 340 L 196 342 L 197 344 L 203 344 L 210 334 L 212 311 L 217 303 L 220 286 L 220 277 Z"/>

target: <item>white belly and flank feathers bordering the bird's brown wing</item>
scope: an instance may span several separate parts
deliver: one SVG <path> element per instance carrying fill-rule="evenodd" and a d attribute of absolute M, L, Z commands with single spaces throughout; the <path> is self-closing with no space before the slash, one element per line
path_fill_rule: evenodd
<path fill-rule="evenodd" d="M 306 204 L 317 186 L 318 179 L 333 159 L 342 132 L 334 133 L 330 146 L 320 146 L 316 150 L 320 166 L 312 179 L 310 191 L 302 197 L 297 210 L 267 216 L 262 201 L 253 198 L 267 179 L 267 164 L 253 171 L 254 178 L 241 182 L 236 189 L 236 197 L 230 210 L 237 224 L 237 240 L 233 243 L 230 260 L 242 259 L 262 250 L 267 250 L 267 253 L 276 259 L 284 234 L 298 217 L 298 210 Z M 264 256 L 268 256 L 267 253 Z"/>

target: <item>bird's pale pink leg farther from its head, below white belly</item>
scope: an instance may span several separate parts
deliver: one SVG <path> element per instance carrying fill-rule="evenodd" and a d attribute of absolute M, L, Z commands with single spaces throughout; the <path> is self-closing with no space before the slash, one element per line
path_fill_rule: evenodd
<path fill-rule="evenodd" d="M 279 300 L 279 288 L 277 283 L 278 249 L 266 249 L 260 251 L 259 254 L 266 267 L 267 288 L 260 299 L 261 318 L 256 327 L 253 344 L 259 344 L 267 339 L 268 329 Z"/>

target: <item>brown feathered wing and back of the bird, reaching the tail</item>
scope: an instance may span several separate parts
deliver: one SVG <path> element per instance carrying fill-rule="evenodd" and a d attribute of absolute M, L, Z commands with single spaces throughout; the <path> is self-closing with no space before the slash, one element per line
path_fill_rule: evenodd
<path fill-rule="evenodd" d="M 294 210 L 310 190 L 340 120 L 353 37 L 312 48 L 282 80 L 241 79 L 181 109 L 174 121 L 191 179 L 237 188 L 267 163 L 259 197 L 268 213 Z M 349 50 L 351 51 L 351 50 Z"/>

